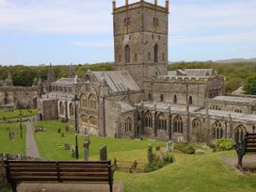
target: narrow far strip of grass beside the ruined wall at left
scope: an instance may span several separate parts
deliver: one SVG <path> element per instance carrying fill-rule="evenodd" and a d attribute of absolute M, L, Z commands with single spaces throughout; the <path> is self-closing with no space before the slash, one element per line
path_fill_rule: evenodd
<path fill-rule="evenodd" d="M 35 116 L 38 114 L 38 109 L 23 109 L 22 110 L 23 117 Z M 0 120 L 3 120 L 4 117 L 8 119 L 17 119 L 20 116 L 20 110 L 13 111 L 5 111 L 3 109 L 0 110 Z"/>

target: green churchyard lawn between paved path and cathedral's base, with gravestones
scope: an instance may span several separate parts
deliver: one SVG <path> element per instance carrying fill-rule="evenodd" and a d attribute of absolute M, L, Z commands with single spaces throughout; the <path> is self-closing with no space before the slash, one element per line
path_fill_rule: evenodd
<path fill-rule="evenodd" d="M 75 137 L 73 131 L 72 133 L 67 133 L 65 131 L 66 125 L 67 123 L 62 123 L 60 121 L 40 121 L 34 123 L 35 127 L 43 126 L 47 130 L 47 132 L 36 134 L 36 140 L 39 146 L 41 157 L 54 160 L 72 159 L 71 152 L 64 151 L 64 143 L 74 145 Z M 61 132 L 65 133 L 64 137 L 61 137 L 60 134 L 57 134 L 56 127 L 59 127 Z M 84 140 L 85 136 L 78 136 L 79 156 L 81 159 L 84 158 Z M 93 156 L 95 159 L 95 156 L 99 156 L 99 149 L 104 145 L 107 146 L 108 152 L 125 152 L 147 149 L 149 143 L 152 143 L 152 146 L 165 146 L 165 142 L 162 141 L 113 139 L 107 137 L 90 136 L 89 155 Z M 135 156 L 134 160 L 136 160 Z"/>

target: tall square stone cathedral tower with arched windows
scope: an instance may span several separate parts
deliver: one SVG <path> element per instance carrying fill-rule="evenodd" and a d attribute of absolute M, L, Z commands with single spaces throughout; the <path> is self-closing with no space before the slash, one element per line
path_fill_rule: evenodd
<path fill-rule="evenodd" d="M 113 1 L 115 64 L 142 86 L 143 77 L 168 74 L 168 0 L 161 7 L 144 0 L 116 7 Z"/>

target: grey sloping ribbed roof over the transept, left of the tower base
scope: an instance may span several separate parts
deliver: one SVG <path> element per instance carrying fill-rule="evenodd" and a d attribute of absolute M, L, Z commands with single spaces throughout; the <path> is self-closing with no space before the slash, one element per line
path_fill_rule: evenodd
<path fill-rule="evenodd" d="M 104 78 L 105 83 L 112 92 L 140 90 L 136 81 L 129 72 L 91 72 L 99 82 Z"/>

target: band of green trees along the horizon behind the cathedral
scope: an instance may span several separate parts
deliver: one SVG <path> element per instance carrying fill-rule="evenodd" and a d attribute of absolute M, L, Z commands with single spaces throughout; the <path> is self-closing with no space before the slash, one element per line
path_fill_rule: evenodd
<path fill-rule="evenodd" d="M 73 71 L 83 77 L 88 70 L 94 72 L 113 71 L 114 63 L 98 63 L 73 65 Z M 56 79 L 68 77 L 70 66 L 57 65 L 53 66 L 56 73 Z M 226 76 L 227 92 L 243 86 L 247 94 L 256 94 L 256 62 L 242 62 L 222 64 L 212 61 L 206 62 L 176 62 L 168 65 L 168 70 L 177 69 L 214 69 L 219 75 Z M 47 78 L 48 66 L 0 66 L 0 80 L 8 77 L 8 72 L 12 75 L 14 86 L 30 87 L 37 85 L 39 79 L 42 81 Z"/>

